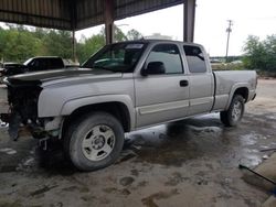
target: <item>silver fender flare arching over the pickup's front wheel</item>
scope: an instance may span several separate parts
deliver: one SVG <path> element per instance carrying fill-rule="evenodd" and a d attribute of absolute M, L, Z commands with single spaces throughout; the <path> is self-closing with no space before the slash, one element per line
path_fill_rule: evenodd
<path fill-rule="evenodd" d="M 104 95 L 104 96 L 93 96 L 93 97 L 84 97 L 84 98 L 68 100 L 63 105 L 61 109 L 61 116 L 68 116 L 76 109 L 79 109 L 81 107 L 96 105 L 96 103 L 104 103 L 104 102 L 124 103 L 129 112 L 130 129 L 135 128 L 135 120 L 136 120 L 135 106 L 132 103 L 131 98 L 126 95 Z"/>

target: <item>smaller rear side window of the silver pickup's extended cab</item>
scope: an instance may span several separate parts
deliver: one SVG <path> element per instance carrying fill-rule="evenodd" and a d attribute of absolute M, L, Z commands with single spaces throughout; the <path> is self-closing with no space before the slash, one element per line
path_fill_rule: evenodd
<path fill-rule="evenodd" d="M 185 58 L 191 73 L 205 73 L 206 65 L 200 47 L 184 45 Z"/>

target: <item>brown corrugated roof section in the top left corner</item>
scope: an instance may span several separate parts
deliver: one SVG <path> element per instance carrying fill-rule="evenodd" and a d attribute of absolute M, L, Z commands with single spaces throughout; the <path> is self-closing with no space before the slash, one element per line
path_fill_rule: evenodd
<path fill-rule="evenodd" d="M 64 0 L 0 0 L 0 21 L 71 29 L 70 4 Z"/>

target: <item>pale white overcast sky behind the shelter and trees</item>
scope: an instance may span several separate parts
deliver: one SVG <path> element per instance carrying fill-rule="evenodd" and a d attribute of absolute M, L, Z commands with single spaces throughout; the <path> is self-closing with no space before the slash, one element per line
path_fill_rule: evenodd
<path fill-rule="evenodd" d="M 194 42 L 202 44 L 211 56 L 223 56 L 226 51 L 227 20 L 233 20 L 229 55 L 243 54 L 248 35 L 276 34 L 276 0 L 197 0 Z M 144 36 L 152 33 L 183 40 L 183 4 L 136 15 L 115 22 L 127 32 L 138 30 Z M 89 37 L 103 25 L 78 31 L 76 37 Z"/>

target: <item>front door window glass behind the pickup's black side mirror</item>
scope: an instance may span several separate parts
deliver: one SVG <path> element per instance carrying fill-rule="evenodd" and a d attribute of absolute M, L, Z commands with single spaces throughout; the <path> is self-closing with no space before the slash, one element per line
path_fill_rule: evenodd
<path fill-rule="evenodd" d="M 151 62 L 162 62 L 164 74 L 183 73 L 179 48 L 174 44 L 156 45 L 146 61 L 146 66 Z"/>

